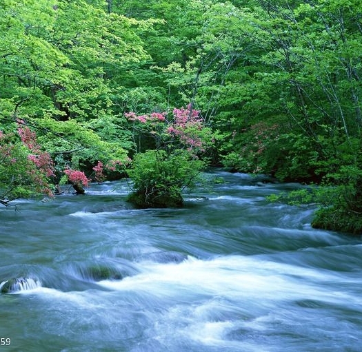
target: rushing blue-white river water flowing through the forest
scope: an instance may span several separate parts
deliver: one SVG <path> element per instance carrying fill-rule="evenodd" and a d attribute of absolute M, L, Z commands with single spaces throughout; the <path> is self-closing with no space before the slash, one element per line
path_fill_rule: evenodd
<path fill-rule="evenodd" d="M 265 200 L 295 185 L 207 176 L 182 209 L 125 182 L 1 208 L 0 351 L 361 351 L 361 239 Z"/>

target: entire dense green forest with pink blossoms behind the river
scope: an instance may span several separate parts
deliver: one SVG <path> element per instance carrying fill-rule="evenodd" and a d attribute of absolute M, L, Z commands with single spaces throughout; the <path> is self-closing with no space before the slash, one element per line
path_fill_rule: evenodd
<path fill-rule="evenodd" d="M 178 206 L 219 165 L 361 233 L 361 0 L 8 0 L 0 32 L 3 205 L 130 176 Z"/>

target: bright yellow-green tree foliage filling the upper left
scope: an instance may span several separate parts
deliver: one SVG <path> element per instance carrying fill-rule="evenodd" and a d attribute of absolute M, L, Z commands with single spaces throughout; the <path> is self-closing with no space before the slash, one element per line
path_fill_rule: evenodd
<path fill-rule="evenodd" d="M 134 28 L 104 3 L 8 1 L 0 8 L 0 118 L 19 117 L 54 158 L 91 167 L 125 158 L 130 136 L 117 120 L 119 71 L 145 59 Z"/>

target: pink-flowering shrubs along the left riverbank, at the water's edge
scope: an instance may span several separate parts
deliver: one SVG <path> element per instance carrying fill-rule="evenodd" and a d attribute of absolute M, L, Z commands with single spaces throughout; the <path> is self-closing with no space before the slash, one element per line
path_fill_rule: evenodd
<path fill-rule="evenodd" d="M 17 133 L 0 130 L 0 204 L 16 198 L 28 198 L 37 194 L 54 196 L 59 191 L 52 183 L 71 183 L 77 194 L 83 194 L 90 178 L 74 167 L 65 167 L 67 162 L 59 158 L 57 167 L 50 154 L 43 151 L 37 141 L 37 134 L 25 121 L 17 120 Z M 61 160 L 61 161 L 59 161 Z M 124 172 L 129 160 L 98 161 L 94 166 L 94 180 L 102 182 L 106 172 Z"/>

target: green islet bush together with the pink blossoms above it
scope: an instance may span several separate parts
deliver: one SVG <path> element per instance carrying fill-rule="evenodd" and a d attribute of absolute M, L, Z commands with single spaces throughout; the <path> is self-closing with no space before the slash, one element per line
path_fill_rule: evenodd
<path fill-rule="evenodd" d="M 206 165 L 199 155 L 212 143 L 212 132 L 200 112 L 188 105 L 169 115 L 128 112 L 125 118 L 132 123 L 133 133 L 139 135 L 139 143 L 144 140 L 142 136 L 154 140 L 153 149 L 134 156 L 128 171 L 134 191 L 128 199 L 141 208 L 181 206 L 181 192 L 195 184 Z"/>

